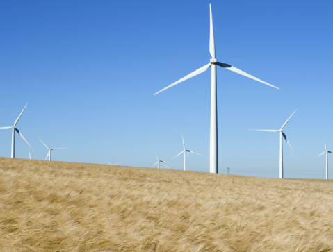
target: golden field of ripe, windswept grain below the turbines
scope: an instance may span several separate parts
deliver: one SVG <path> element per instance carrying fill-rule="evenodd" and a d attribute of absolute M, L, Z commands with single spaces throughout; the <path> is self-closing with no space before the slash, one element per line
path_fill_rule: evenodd
<path fill-rule="evenodd" d="M 333 181 L 0 158 L 1 251 L 333 251 Z"/>

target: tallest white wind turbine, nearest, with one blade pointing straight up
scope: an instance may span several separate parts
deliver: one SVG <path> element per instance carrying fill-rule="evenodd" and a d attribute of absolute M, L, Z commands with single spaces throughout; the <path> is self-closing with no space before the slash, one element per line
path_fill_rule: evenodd
<path fill-rule="evenodd" d="M 211 5 L 210 10 L 211 10 Z M 215 42 L 214 42 L 214 31 L 213 31 L 213 16 L 211 14 L 211 29 L 210 29 L 210 37 L 209 37 L 209 53 L 211 53 L 211 61 L 209 64 L 204 65 L 200 69 L 195 70 L 195 72 L 192 72 L 185 76 L 184 78 L 181 78 L 179 81 L 176 81 L 175 83 L 172 83 L 171 85 L 168 85 L 168 87 L 163 88 L 163 90 L 160 90 L 159 92 L 162 92 L 164 90 L 167 90 L 169 87 L 172 87 L 174 85 L 177 85 L 178 83 L 181 83 L 182 81 L 186 81 L 188 78 L 191 78 L 193 76 L 196 76 L 197 74 L 201 74 L 202 72 L 205 72 L 209 67 L 211 67 L 211 144 L 210 144 L 210 171 L 212 173 L 218 173 L 218 110 L 217 110 L 217 96 L 216 96 L 216 65 L 223 67 L 225 69 L 228 69 L 232 72 L 235 72 L 237 74 L 241 74 L 243 76 L 246 76 L 248 78 L 252 78 L 254 81 L 259 81 L 263 84 L 269 85 L 270 87 L 275 87 L 273 85 L 270 85 L 266 83 L 265 81 L 259 80 L 259 78 L 256 78 L 250 74 L 247 74 L 240 69 L 233 67 L 232 65 L 228 65 L 225 63 L 220 63 L 215 58 Z M 278 87 L 275 87 L 279 89 Z M 155 94 L 159 94 L 159 92 L 156 92 Z M 154 94 L 154 95 L 155 95 Z"/>

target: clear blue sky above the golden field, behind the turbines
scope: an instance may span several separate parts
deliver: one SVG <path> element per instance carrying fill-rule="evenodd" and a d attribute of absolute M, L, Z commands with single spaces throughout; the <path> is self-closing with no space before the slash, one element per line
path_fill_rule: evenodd
<path fill-rule="evenodd" d="M 333 151 L 332 1 L 1 1 L 0 127 L 17 128 L 33 159 L 150 167 L 186 147 L 188 169 L 209 171 L 210 70 L 153 94 L 216 58 L 280 88 L 218 68 L 219 169 L 277 177 L 285 128 L 286 177 L 325 178 Z M 11 132 L 0 131 L 10 157 Z M 28 145 L 16 135 L 17 158 Z M 333 163 L 333 155 L 330 155 Z M 182 169 L 183 156 L 171 160 Z M 330 165 L 333 178 L 333 165 Z"/>

